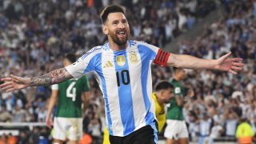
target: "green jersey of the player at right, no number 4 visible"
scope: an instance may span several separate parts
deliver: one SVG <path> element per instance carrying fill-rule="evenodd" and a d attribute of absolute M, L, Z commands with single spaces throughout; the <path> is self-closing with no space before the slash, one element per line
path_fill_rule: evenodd
<path fill-rule="evenodd" d="M 184 97 L 185 90 L 182 86 L 181 82 L 172 79 L 170 83 L 174 86 L 174 96 L 175 97 Z M 184 120 L 182 107 L 177 105 L 176 99 L 172 98 L 170 100 L 170 106 L 167 108 L 166 119 L 173 119 L 173 120 Z"/>

